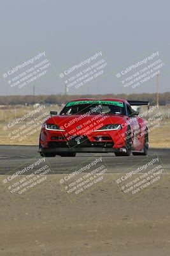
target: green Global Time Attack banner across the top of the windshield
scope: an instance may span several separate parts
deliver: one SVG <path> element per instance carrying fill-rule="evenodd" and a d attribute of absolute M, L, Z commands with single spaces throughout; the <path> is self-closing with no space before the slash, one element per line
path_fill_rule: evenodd
<path fill-rule="evenodd" d="M 80 101 L 71 101 L 67 103 L 67 107 L 75 106 L 75 105 L 82 105 L 82 104 L 106 104 L 106 105 L 114 105 L 118 107 L 124 107 L 123 102 L 118 101 L 111 101 L 111 100 L 80 100 Z"/>

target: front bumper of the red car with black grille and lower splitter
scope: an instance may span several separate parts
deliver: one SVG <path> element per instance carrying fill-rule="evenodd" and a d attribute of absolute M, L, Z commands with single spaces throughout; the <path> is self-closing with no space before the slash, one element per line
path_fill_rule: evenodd
<path fill-rule="evenodd" d="M 43 134 L 41 134 L 43 135 Z M 117 132 L 114 132 L 115 140 L 111 137 L 113 133 L 100 132 L 99 134 L 94 132 L 90 134 L 90 136 L 83 135 L 74 136 L 71 140 L 64 140 L 62 134 L 60 134 L 60 140 L 57 138 L 59 134 L 50 134 L 48 137 L 49 140 L 40 140 L 40 149 L 41 153 L 108 153 L 108 152 L 125 152 L 125 145 L 122 140 L 118 141 L 119 143 L 115 144 L 117 136 L 119 135 Z M 120 136 L 120 135 L 119 135 Z M 102 137 L 97 140 L 96 137 Z"/>

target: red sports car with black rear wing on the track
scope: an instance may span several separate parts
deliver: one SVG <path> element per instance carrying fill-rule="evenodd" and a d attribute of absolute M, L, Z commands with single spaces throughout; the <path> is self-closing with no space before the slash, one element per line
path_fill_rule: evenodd
<path fill-rule="evenodd" d="M 39 153 L 45 157 L 74 157 L 80 152 L 146 156 L 148 127 L 131 106 L 148 104 L 122 99 L 71 100 L 59 115 L 50 112 L 41 129 Z"/>

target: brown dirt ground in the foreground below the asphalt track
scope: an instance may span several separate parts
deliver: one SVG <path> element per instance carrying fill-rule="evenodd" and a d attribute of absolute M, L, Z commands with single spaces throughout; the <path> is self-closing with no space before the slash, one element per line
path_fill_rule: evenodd
<path fill-rule="evenodd" d="M 70 202 L 55 180 L 12 201 L 0 188 L 2 256 L 170 255 L 169 175 L 126 202 L 113 182 Z"/>

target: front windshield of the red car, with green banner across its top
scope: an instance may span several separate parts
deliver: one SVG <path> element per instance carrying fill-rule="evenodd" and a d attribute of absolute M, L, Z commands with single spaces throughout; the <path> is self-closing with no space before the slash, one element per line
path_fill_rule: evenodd
<path fill-rule="evenodd" d="M 60 115 L 124 115 L 124 103 L 111 100 L 72 101 L 62 109 Z"/>

